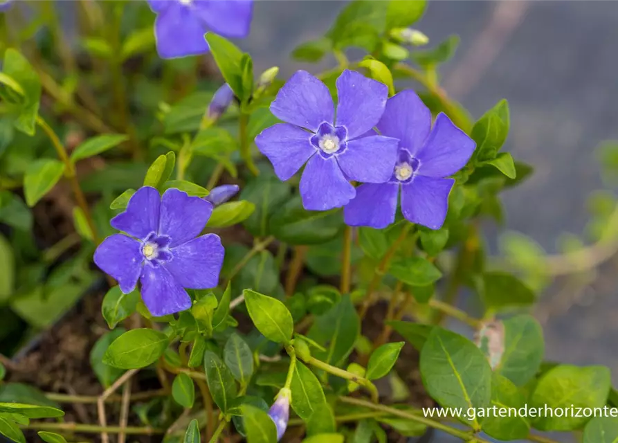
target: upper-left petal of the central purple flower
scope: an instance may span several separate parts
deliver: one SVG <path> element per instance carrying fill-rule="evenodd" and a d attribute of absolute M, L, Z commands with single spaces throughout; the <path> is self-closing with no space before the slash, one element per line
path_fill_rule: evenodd
<path fill-rule="evenodd" d="M 333 98 L 320 80 L 307 71 L 296 71 L 279 90 L 271 112 L 284 122 L 316 132 L 320 123 L 333 122 Z"/>

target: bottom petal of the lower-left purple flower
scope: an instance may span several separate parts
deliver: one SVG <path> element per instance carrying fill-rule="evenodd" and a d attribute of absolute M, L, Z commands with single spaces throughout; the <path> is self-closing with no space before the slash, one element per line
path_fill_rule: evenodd
<path fill-rule="evenodd" d="M 164 266 L 145 264 L 140 277 L 142 300 L 150 314 L 167 316 L 191 307 L 191 298 Z"/>

